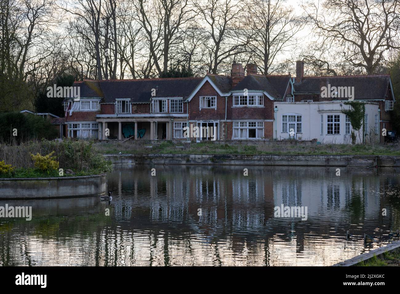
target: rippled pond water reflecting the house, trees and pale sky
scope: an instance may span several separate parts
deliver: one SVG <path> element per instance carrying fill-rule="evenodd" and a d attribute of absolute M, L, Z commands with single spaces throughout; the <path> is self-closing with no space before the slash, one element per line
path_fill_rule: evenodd
<path fill-rule="evenodd" d="M 0 264 L 331 265 L 399 228 L 394 169 L 337 177 L 332 168 L 246 167 L 245 177 L 243 168 L 120 165 L 108 175 L 111 206 L 98 197 L 1 201 L 32 206 L 33 217 L 0 219 Z M 274 218 L 281 204 L 308 207 L 308 219 Z M 378 243 L 365 246 L 364 233 Z"/>

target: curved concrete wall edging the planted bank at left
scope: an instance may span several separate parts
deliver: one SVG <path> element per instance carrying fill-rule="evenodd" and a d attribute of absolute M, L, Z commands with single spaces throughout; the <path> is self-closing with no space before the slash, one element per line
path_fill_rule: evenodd
<path fill-rule="evenodd" d="M 106 175 L 0 179 L 0 199 L 50 199 L 106 193 Z"/>

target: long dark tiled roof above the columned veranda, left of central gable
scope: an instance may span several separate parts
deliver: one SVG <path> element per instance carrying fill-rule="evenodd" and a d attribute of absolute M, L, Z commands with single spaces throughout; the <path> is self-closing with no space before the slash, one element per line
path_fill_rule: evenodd
<path fill-rule="evenodd" d="M 132 103 L 150 103 L 153 89 L 155 97 L 183 97 L 192 93 L 202 77 L 182 77 L 165 79 L 118 79 L 74 83 L 80 86 L 82 98 L 104 98 L 101 103 L 112 103 L 115 99 L 130 99 Z"/>

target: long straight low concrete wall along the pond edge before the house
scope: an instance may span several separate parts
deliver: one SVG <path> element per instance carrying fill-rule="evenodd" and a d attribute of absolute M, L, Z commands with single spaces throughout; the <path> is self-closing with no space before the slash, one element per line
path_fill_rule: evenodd
<path fill-rule="evenodd" d="M 113 163 L 170 165 L 297 165 L 345 167 L 353 158 L 377 159 L 379 167 L 400 167 L 400 156 L 355 155 L 186 155 L 105 154 Z"/>

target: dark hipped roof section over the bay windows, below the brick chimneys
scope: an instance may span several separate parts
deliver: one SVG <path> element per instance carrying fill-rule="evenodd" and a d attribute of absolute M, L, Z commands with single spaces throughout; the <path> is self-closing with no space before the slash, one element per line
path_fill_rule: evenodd
<path fill-rule="evenodd" d="M 282 99 L 290 83 L 289 75 L 246 75 L 232 91 L 248 89 L 249 91 L 265 91 L 274 98 Z"/>

